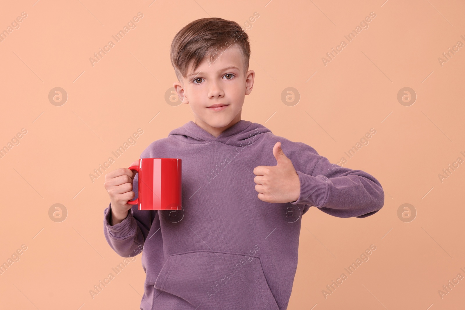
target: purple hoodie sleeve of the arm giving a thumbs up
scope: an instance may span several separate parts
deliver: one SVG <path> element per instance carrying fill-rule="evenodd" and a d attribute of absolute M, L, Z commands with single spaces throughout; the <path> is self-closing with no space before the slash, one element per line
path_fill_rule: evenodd
<path fill-rule="evenodd" d="M 384 205 L 381 184 L 365 171 L 332 164 L 308 145 L 300 150 L 296 164 L 302 170 L 296 168 L 300 195 L 291 204 L 316 206 L 338 218 L 365 218 Z"/>

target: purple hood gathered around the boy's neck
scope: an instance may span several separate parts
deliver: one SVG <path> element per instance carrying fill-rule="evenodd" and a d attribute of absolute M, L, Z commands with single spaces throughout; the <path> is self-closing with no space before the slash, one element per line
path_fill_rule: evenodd
<path fill-rule="evenodd" d="M 218 141 L 226 145 L 242 146 L 248 144 L 246 139 L 249 139 L 253 135 L 259 137 L 260 134 L 265 132 L 271 132 L 271 130 L 261 124 L 241 119 L 215 138 L 210 132 L 207 132 L 191 120 L 182 127 L 173 129 L 168 134 L 168 137 L 174 136 L 181 141 L 191 144 L 204 144 Z"/>

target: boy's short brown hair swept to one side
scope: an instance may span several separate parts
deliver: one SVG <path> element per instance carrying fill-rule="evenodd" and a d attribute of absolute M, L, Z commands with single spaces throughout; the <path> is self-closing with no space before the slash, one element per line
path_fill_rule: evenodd
<path fill-rule="evenodd" d="M 207 55 L 211 63 L 221 49 L 233 45 L 239 47 L 244 59 L 244 70 L 247 72 L 250 58 L 248 39 L 247 33 L 232 20 L 207 17 L 190 22 L 176 33 L 171 43 L 171 64 L 176 77 L 181 82 L 181 76 L 186 78 L 191 62 L 195 70 Z"/>

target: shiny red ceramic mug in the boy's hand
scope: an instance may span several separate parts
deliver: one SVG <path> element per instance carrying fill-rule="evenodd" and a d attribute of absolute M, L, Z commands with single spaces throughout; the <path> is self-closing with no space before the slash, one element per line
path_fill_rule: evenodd
<path fill-rule="evenodd" d="M 181 159 L 140 158 L 129 169 L 139 172 L 139 196 L 128 204 L 138 204 L 139 210 L 181 210 Z"/>

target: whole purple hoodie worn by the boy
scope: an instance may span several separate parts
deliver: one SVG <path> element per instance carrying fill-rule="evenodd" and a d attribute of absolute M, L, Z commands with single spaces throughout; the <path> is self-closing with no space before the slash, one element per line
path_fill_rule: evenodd
<path fill-rule="evenodd" d="M 297 201 L 271 204 L 255 191 L 253 169 L 274 166 L 280 141 L 300 180 Z M 365 218 L 384 204 L 370 174 L 331 164 L 311 146 L 240 120 L 217 138 L 189 121 L 150 144 L 140 158 L 182 159 L 182 210 L 140 211 L 104 233 L 122 257 L 142 252 L 140 309 L 285 310 L 297 269 L 302 215 L 316 206 Z M 133 182 L 138 195 L 138 175 Z M 134 199 L 135 199 L 134 198 Z"/>

